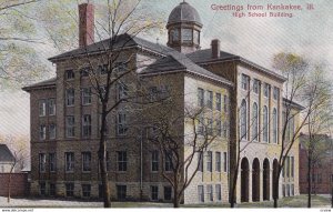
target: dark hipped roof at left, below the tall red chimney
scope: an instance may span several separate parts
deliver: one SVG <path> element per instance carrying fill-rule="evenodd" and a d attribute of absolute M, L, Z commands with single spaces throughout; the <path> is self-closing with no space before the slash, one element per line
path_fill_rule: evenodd
<path fill-rule="evenodd" d="M 161 46 L 159 43 L 153 43 L 150 41 L 147 41 L 144 39 L 138 38 L 138 37 L 131 37 L 128 33 L 120 34 L 114 37 L 114 39 L 105 39 L 95 43 L 92 43 L 90 46 L 87 46 L 85 48 L 79 48 L 74 49 L 72 51 L 64 52 L 62 54 L 49 58 L 50 61 L 56 62 L 57 60 L 65 59 L 65 58 L 72 58 L 72 57 L 79 57 L 79 55 L 87 55 L 87 54 L 95 54 L 101 53 L 104 51 L 110 50 L 112 48 L 113 50 L 122 50 L 124 48 L 144 48 L 152 52 L 159 53 L 159 54 L 165 54 L 165 52 L 171 51 L 171 48 L 168 48 L 165 46 Z"/>

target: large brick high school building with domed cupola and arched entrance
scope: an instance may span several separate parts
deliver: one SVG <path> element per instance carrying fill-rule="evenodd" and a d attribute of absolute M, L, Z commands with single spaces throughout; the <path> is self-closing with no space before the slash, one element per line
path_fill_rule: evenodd
<path fill-rule="evenodd" d="M 50 59 L 57 65 L 57 78 L 23 88 L 31 100 L 32 194 L 83 198 L 101 194 L 97 154 L 100 102 L 90 90 L 84 68 L 89 64 L 88 54 L 93 61 L 104 57 L 110 39 L 93 41 L 93 6 L 81 4 L 79 11 L 80 48 Z M 219 40 L 212 41 L 211 49 L 202 50 L 202 27 L 198 11 L 182 2 L 169 16 L 168 47 L 121 34 L 112 39 L 115 47 L 122 47 L 117 62 L 140 67 L 144 61 L 144 69 L 138 68 L 137 73 L 157 90 L 176 91 L 175 112 L 183 113 L 184 110 L 178 109 L 186 105 L 204 105 L 210 113 L 218 114 L 216 121 L 204 119 L 220 128 L 221 134 L 204 152 L 202 168 L 184 192 L 184 203 L 229 201 L 229 168 L 234 165 L 238 154 L 234 144 L 239 140 L 241 148 L 246 148 L 241 152 L 238 201 L 272 200 L 272 175 L 281 149 L 279 132 L 286 102 L 281 94 L 285 78 L 221 51 Z M 138 89 L 138 84 L 131 85 Z M 114 90 L 112 98 L 123 94 L 122 89 Z M 296 103 L 292 105 L 294 112 L 302 109 Z M 108 120 L 112 199 L 170 201 L 172 191 L 161 175 L 160 155 L 153 154 L 145 138 L 131 128 L 138 117 L 147 114 L 120 109 Z M 291 129 L 297 124 L 297 115 L 294 119 Z M 174 125 L 183 139 L 190 127 L 185 120 Z M 184 155 L 186 148 L 183 142 Z M 299 194 L 297 151 L 297 145 L 291 151 L 280 195 Z M 152 169 L 153 164 L 158 168 Z"/>

